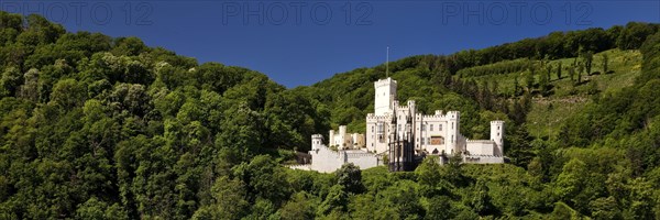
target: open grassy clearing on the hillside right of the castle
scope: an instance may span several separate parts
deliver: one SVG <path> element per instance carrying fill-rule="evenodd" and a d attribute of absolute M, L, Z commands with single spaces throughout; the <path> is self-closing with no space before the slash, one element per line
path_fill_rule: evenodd
<path fill-rule="evenodd" d="M 551 74 L 552 95 L 548 97 L 536 96 L 531 112 L 527 116 L 527 127 L 531 135 L 537 138 L 554 136 L 559 132 L 560 125 L 573 112 L 579 111 L 591 102 L 592 99 L 587 95 L 588 84 L 595 81 L 598 86 L 598 94 L 613 92 L 620 90 L 624 87 L 632 85 L 634 79 L 640 74 L 641 54 L 639 51 L 619 51 L 610 50 L 594 55 L 592 72 L 603 72 L 602 54 L 606 53 L 609 62 L 608 68 L 614 70 L 613 74 L 600 74 L 593 76 L 583 75 L 583 80 L 587 81 L 580 86 L 573 87 L 569 73 L 565 69 L 570 66 L 574 58 L 563 58 L 551 61 L 550 65 L 557 66 L 562 63 L 562 78 L 558 79 L 557 74 Z M 499 84 L 499 92 L 502 95 L 510 95 L 514 90 L 514 81 L 518 76 L 519 84 L 525 85 L 522 73 L 512 73 L 506 75 L 488 75 L 474 77 L 477 82 L 496 80 Z M 536 75 L 538 81 L 538 74 Z"/>

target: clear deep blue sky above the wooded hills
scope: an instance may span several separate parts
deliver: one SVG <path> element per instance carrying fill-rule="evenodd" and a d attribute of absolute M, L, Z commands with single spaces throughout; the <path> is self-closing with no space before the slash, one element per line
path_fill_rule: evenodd
<path fill-rule="evenodd" d="M 200 63 L 243 66 L 287 87 L 420 54 L 483 48 L 552 31 L 660 22 L 658 0 L 19 1 L 68 31 L 138 36 Z M 261 21 L 263 20 L 263 22 Z"/>

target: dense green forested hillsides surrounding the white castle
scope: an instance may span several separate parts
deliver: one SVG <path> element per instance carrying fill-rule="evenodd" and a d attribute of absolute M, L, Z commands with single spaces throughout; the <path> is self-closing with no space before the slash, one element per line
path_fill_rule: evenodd
<path fill-rule="evenodd" d="M 364 131 L 384 65 L 287 89 L 0 12 L 0 219 L 658 219 L 658 29 L 393 62 L 398 99 L 461 111 L 466 136 L 505 120 L 510 164 L 318 174 L 282 164 L 314 133 Z"/>

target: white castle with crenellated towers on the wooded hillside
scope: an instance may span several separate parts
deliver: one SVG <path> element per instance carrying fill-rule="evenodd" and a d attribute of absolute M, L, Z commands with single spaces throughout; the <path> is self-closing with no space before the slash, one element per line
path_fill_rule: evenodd
<path fill-rule="evenodd" d="M 311 136 L 311 164 L 292 168 L 330 173 L 344 163 L 361 168 L 388 165 L 389 170 L 413 170 L 427 155 L 459 153 L 464 163 L 504 163 L 504 121 L 491 122 L 490 140 L 469 140 L 460 132 L 458 111 L 422 114 L 414 100 L 406 106 L 396 98 L 397 82 L 392 78 L 374 82 L 374 113 L 366 116 L 366 134 L 330 131 L 327 146 L 323 136 Z M 366 141 L 364 141 L 366 140 Z"/>

